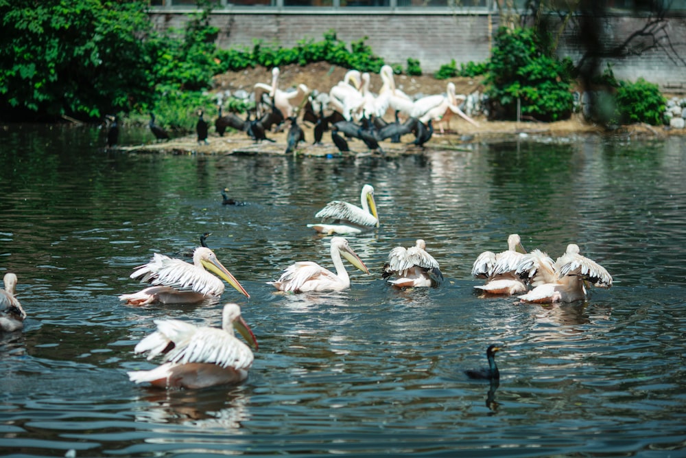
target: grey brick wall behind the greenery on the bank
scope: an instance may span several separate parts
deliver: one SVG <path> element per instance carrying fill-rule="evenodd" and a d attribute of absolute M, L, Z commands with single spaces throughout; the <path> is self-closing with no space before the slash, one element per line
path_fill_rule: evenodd
<path fill-rule="evenodd" d="M 158 12 L 152 20 L 160 30 L 183 27 L 187 12 Z M 608 47 L 624 40 L 639 29 L 646 19 L 611 16 L 605 19 Z M 212 24 L 220 29 L 218 45 L 224 48 L 252 47 L 253 38 L 268 45 L 293 47 L 304 38 L 320 41 L 333 29 L 345 43 L 368 36 L 366 44 L 387 63 L 407 64 L 407 58 L 421 62 L 425 73 L 433 73 L 441 65 L 456 60 L 483 62 L 490 56 L 491 37 L 497 30 L 499 17 L 488 12 L 475 14 L 341 14 L 316 12 L 213 12 Z M 615 76 L 622 80 L 643 77 L 666 89 L 686 91 L 686 19 L 671 18 L 660 33 L 661 47 L 639 56 L 613 59 Z M 667 40 L 666 36 L 669 36 Z M 643 38 L 646 40 L 648 38 Z M 560 54 L 577 59 L 582 50 L 574 43 L 573 30 L 559 47 Z"/>

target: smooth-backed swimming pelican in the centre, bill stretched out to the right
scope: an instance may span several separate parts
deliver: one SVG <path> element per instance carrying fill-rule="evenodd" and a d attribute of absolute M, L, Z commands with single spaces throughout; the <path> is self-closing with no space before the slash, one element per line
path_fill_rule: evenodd
<path fill-rule="evenodd" d="M 348 240 L 342 237 L 331 239 L 331 260 L 336 273 L 323 268 L 316 262 L 302 261 L 288 266 L 276 282 L 268 282 L 280 291 L 305 293 L 307 291 L 342 291 L 350 288 L 350 277 L 345 270 L 343 255 L 353 266 L 364 273 L 369 269 L 359 256 L 348 246 Z"/>

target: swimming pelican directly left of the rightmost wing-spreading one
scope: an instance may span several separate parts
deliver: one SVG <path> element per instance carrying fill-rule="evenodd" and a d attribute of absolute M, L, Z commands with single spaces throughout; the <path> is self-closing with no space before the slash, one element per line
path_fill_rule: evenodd
<path fill-rule="evenodd" d="M 526 253 L 521 246 L 521 238 L 516 233 L 508 236 L 508 249 L 495 254 L 492 251 L 481 253 L 472 266 L 472 275 L 485 278 L 486 284 L 474 288 L 492 295 L 513 295 L 523 293 L 527 286 L 517 267 Z"/>

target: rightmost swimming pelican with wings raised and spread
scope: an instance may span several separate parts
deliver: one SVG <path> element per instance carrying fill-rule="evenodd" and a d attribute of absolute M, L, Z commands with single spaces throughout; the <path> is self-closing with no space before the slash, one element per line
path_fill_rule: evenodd
<path fill-rule="evenodd" d="M 522 302 L 552 304 L 586 299 L 585 282 L 599 288 L 610 288 L 612 277 L 604 267 L 579 254 L 579 247 L 570 243 L 567 252 L 553 260 L 540 250 L 525 255 L 517 273 L 526 273 L 534 287 L 529 293 L 518 296 Z"/>

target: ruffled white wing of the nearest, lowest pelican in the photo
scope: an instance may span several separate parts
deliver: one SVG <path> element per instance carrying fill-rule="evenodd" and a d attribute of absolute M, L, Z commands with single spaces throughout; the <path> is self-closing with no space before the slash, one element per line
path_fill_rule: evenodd
<path fill-rule="evenodd" d="M 177 364 L 205 363 L 248 369 L 254 356 L 248 345 L 217 328 L 198 328 L 187 345 L 177 345 L 167 361 Z"/>

